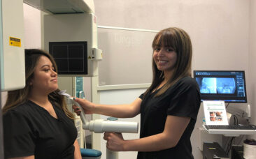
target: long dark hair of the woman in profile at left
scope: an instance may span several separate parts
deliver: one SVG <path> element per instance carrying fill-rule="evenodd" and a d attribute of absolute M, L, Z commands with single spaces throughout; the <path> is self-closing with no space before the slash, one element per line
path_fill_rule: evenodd
<path fill-rule="evenodd" d="M 9 109 L 16 107 L 17 105 L 21 105 L 22 103 L 27 102 L 27 98 L 29 97 L 29 93 L 31 91 L 31 85 L 29 84 L 34 75 L 34 70 L 38 63 L 38 60 L 41 56 L 46 56 L 52 62 L 52 65 L 57 71 L 57 66 L 52 58 L 52 56 L 42 50 L 37 49 L 29 49 L 25 50 L 25 75 L 26 75 L 26 84 L 23 89 L 18 89 L 14 91 L 8 91 L 6 104 L 3 106 L 3 114 L 8 112 Z M 66 107 L 66 102 L 64 96 L 59 95 L 59 89 L 53 91 L 48 95 L 49 100 L 54 103 L 57 107 L 62 109 L 66 116 L 70 119 L 74 119 L 73 114 L 69 112 Z"/>

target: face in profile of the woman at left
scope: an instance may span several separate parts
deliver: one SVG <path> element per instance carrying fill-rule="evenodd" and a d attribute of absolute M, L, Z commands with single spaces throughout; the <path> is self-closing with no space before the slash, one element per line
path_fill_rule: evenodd
<path fill-rule="evenodd" d="M 45 94 L 58 89 L 57 73 L 48 57 L 40 56 L 34 70 L 33 78 L 29 84 L 32 86 L 32 91 Z"/>

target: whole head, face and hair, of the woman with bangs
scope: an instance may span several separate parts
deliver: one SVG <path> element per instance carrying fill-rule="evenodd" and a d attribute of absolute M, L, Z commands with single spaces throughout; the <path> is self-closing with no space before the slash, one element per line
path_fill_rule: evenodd
<path fill-rule="evenodd" d="M 152 42 L 153 79 L 171 82 L 191 76 L 192 44 L 183 30 L 170 27 L 159 31 Z"/>

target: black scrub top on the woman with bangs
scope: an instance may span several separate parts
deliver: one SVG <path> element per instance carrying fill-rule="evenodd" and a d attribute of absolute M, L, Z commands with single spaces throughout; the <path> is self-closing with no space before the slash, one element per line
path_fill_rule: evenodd
<path fill-rule="evenodd" d="M 173 84 L 161 96 L 148 93 L 141 103 L 141 135 L 148 137 L 164 131 L 167 115 L 190 117 L 190 123 L 180 137 L 178 144 L 162 151 L 138 152 L 138 159 L 191 159 L 192 146 L 190 136 L 197 121 L 201 104 L 199 86 L 191 77 L 184 77 Z"/>

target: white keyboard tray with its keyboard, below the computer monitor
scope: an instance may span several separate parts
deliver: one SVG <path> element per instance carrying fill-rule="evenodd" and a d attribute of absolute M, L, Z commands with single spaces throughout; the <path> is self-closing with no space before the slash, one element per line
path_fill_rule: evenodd
<path fill-rule="evenodd" d="M 216 125 L 203 125 L 209 134 L 222 134 L 225 136 L 239 136 L 239 135 L 253 135 L 256 133 L 255 126 L 216 126 Z"/>

